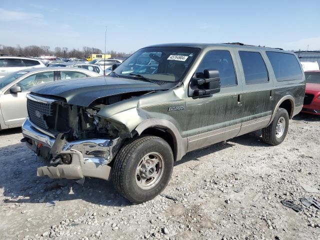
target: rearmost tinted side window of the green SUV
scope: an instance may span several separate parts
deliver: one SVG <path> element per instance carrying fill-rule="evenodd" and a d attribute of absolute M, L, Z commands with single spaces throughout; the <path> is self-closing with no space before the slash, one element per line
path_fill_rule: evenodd
<path fill-rule="evenodd" d="M 277 81 L 288 81 L 301 78 L 301 68 L 296 57 L 293 54 L 276 51 L 266 51 L 266 55 L 271 62 Z"/>

